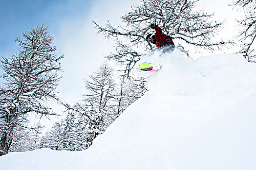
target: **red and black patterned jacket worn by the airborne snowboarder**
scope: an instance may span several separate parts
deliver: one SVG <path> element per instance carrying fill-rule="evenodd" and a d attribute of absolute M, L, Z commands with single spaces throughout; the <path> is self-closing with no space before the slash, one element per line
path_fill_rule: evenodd
<path fill-rule="evenodd" d="M 165 44 L 171 43 L 174 46 L 171 37 L 167 36 L 166 34 L 163 34 L 162 29 L 160 27 L 156 25 L 154 29 L 156 33 L 152 36 L 152 38 L 154 38 L 153 44 L 155 44 L 157 47 L 162 47 Z"/>

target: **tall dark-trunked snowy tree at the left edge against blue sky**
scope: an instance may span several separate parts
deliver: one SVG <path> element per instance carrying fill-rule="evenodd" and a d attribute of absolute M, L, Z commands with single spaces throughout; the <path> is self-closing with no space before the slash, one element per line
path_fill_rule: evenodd
<path fill-rule="evenodd" d="M 1 56 L 3 84 L 0 88 L 0 155 L 6 154 L 17 127 L 28 127 L 28 115 L 55 115 L 46 101 L 57 99 L 56 87 L 61 77 L 61 59 L 56 46 L 41 25 L 16 37 L 19 52 Z"/>

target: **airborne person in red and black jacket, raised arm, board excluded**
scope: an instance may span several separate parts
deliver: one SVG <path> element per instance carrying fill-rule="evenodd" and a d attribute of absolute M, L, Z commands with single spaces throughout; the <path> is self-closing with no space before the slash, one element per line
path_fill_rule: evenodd
<path fill-rule="evenodd" d="M 174 50 L 174 43 L 171 36 L 163 34 L 162 29 L 158 25 L 151 24 L 150 28 L 155 29 L 156 33 L 151 37 L 152 34 L 148 34 L 146 39 L 148 42 L 155 44 L 158 48 L 167 47 L 168 51 Z"/>

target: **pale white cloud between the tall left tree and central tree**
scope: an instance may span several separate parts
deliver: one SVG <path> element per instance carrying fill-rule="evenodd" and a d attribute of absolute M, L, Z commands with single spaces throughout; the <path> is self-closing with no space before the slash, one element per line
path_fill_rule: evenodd
<path fill-rule="evenodd" d="M 81 11 L 79 17 L 64 18 L 60 31 L 54 36 L 59 54 L 64 54 L 63 79 L 59 85 L 60 97 L 67 102 L 76 102 L 85 92 L 84 78 L 105 60 L 104 55 L 113 50 L 111 41 L 103 35 L 96 36 L 92 20 L 104 25 L 107 20 L 120 23 L 120 17 L 130 10 L 136 0 L 96 0 L 90 12 Z M 139 1 L 137 1 L 139 2 Z M 78 15 L 80 12 L 77 12 Z"/>

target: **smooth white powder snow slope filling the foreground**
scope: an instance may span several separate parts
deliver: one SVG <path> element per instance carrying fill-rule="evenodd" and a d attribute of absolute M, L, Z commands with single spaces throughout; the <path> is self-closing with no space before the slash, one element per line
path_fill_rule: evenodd
<path fill-rule="evenodd" d="M 0 170 L 256 170 L 256 64 L 240 55 L 178 51 L 149 92 L 81 152 L 40 149 L 0 157 Z"/>

